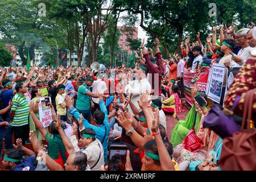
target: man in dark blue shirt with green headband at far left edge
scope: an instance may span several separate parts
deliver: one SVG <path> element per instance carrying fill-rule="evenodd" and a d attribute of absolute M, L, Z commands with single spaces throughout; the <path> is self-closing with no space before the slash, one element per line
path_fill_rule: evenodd
<path fill-rule="evenodd" d="M 16 90 L 13 90 L 13 84 L 11 83 L 11 80 L 3 80 L 2 81 L 3 91 L 0 94 L 0 97 L 3 101 L 3 107 L 9 106 L 10 100 L 13 98 L 13 96 L 16 94 Z M 6 114 L 1 115 L 4 121 L 10 122 L 10 111 L 7 111 Z M 13 148 L 13 129 L 11 127 L 6 127 L 5 131 L 5 149 Z"/>

